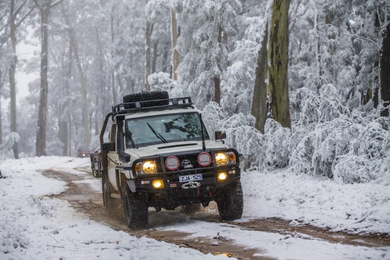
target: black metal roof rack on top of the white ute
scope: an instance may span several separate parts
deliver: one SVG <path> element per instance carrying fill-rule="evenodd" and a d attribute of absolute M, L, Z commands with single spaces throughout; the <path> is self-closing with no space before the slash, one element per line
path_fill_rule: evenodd
<path fill-rule="evenodd" d="M 162 104 L 162 105 L 161 105 Z M 134 107 L 127 108 L 126 107 Z M 178 109 L 178 108 L 194 108 L 191 101 L 191 97 L 176 98 L 176 99 L 165 99 L 165 100 L 145 100 L 129 103 L 121 103 L 113 106 L 113 116 L 154 111 L 154 110 L 165 110 L 165 109 Z"/>

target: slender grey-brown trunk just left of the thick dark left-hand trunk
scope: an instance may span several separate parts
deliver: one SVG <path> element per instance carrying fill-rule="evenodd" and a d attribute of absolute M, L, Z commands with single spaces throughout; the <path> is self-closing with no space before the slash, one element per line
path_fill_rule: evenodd
<path fill-rule="evenodd" d="M 9 90 L 10 90 L 10 105 L 11 105 L 11 132 L 18 132 L 17 123 L 16 123 L 16 83 L 15 83 L 15 71 L 16 63 L 18 62 L 18 57 L 16 56 L 16 25 L 15 25 L 15 16 L 14 16 L 15 0 L 11 0 L 11 10 L 10 10 L 10 36 L 11 36 L 11 48 L 12 56 L 11 65 L 9 69 Z M 19 158 L 18 152 L 18 143 L 16 142 L 13 147 L 15 159 Z"/>

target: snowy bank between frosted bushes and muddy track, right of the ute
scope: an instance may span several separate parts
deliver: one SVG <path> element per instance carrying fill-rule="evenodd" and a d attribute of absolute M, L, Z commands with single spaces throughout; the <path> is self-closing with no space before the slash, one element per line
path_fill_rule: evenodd
<path fill-rule="evenodd" d="M 241 181 L 244 220 L 278 217 L 333 231 L 390 233 L 389 186 L 343 184 L 287 169 L 243 172 Z"/>

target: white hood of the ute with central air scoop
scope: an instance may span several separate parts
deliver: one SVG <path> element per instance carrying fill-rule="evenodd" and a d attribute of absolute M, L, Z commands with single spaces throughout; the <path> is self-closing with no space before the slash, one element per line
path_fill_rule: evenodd
<path fill-rule="evenodd" d="M 206 149 L 224 149 L 227 148 L 226 145 L 215 142 L 213 140 L 205 140 Z M 147 157 L 157 154 L 166 154 L 166 153 L 176 153 L 176 152 L 185 152 L 192 150 L 201 150 L 202 141 L 185 141 L 185 142 L 170 142 L 170 143 L 160 143 L 156 145 L 149 145 L 145 147 L 140 147 L 138 149 L 126 149 L 125 152 L 132 156 L 132 160 L 135 160 L 135 157 Z M 133 156 L 134 155 L 134 156 Z"/>

